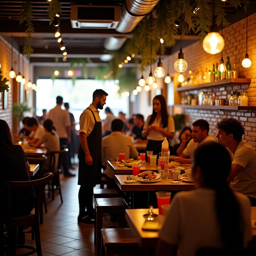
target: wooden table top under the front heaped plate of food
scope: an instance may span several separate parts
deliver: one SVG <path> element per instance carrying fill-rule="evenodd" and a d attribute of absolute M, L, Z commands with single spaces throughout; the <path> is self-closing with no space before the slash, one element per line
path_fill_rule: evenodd
<path fill-rule="evenodd" d="M 157 191 L 157 190 L 191 190 L 194 189 L 194 183 L 184 182 L 170 183 L 173 179 L 161 179 L 154 183 L 124 183 L 127 175 L 115 175 L 115 182 L 121 191 Z"/>

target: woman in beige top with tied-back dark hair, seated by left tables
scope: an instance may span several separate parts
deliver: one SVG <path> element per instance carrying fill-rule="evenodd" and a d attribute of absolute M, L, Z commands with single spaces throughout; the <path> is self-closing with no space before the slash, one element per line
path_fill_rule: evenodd
<path fill-rule="evenodd" d="M 46 119 L 44 121 L 43 125 L 44 125 L 45 134 L 35 144 L 35 147 L 39 147 L 42 143 L 45 144 L 45 147 L 47 148 L 48 158 L 44 162 L 42 170 L 48 171 L 49 164 L 50 164 L 50 153 L 51 153 L 51 151 L 60 150 L 60 141 L 59 141 L 58 134 L 54 132 L 55 127 L 53 126 L 53 123 L 50 119 Z M 56 156 L 55 156 L 55 167 L 57 166 L 57 164 L 58 164 L 58 154 L 56 154 Z"/>

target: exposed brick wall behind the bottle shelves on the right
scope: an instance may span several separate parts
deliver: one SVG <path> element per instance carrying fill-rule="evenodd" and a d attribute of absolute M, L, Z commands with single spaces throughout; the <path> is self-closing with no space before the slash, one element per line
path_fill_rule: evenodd
<path fill-rule="evenodd" d="M 219 88 L 209 88 L 209 92 L 214 91 L 218 99 L 228 101 L 230 93 L 232 91 L 246 92 L 249 98 L 249 106 L 256 106 L 256 14 L 248 17 L 248 55 L 252 61 L 250 68 L 242 67 L 242 60 L 246 54 L 246 19 L 243 19 L 237 23 L 232 24 L 230 27 L 223 29 L 223 38 L 225 40 L 225 48 L 223 49 L 223 59 L 226 63 L 226 57 L 230 57 L 231 67 L 236 64 L 239 69 L 240 78 L 250 78 L 250 84 L 242 84 L 236 86 L 223 86 Z M 205 71 L 212 70 L 212 65 L 216 62 L 220 63 L 221 54 L 210 55 L 207 54 L 202 45 L 196 42 L 188 47 L 183 48 L 184 58 L 188 63 L 188 69 L 183 73 L 184 77 L 189 77 L 189 70 Z M 169 56 L 170 63 L 174 63 L 178 54 L 175 53 Z M 167 60 L 163 63 L 163 66 L 167 66 Z M 171 73 L 175 76 L 175 70 L 171 70 Z M 197 98 L 198 93 L 201 90 L 192 91 Z M 205 91 L 205 90 L 204 90 Z M 182 94 L 182 92 L 181 92 Z M 210 124 L 209 134 L 216 136 L 217 129 L 216 123 L 224 117 L 234 117 L 240 120 L 246 128 L 246 134 L 243 139 L 250 143 L 254 149 L 256 149 L 256 117 L 255 111 L 228 111 L 228 110 L 202 110 L 202 109 L 184 109 L 177 110 L 177 112 L 183 111 L 186 115 L 185 125 L 191 126 L 191 124 L 197 119 L 205 119 Z"/>

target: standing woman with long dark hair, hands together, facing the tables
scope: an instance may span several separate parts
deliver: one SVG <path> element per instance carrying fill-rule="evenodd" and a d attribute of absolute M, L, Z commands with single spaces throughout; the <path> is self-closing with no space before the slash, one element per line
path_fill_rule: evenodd
<path fill-rule="evenodd" d="M 158 155 L 162 151 L 164 138 L 172 139 L 174 133 L 174 120 L 167 112 L 165 98 L 157 95 L 153 99 L 153 113 L 148 116 L 142 131 L 142 137 L 147 137 L 146 151 L 151 150 Z"/>

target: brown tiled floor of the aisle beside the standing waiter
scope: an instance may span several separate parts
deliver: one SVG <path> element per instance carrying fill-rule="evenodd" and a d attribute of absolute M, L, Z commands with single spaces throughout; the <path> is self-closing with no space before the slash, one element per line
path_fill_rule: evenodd
<path fill-rule="evenodd" d="M 78 167 L 72 171 L 75 177 L 61 178 L 63 204 L 59 195 L 55 200 L 47 198 L 47 213 L 44 213 L 44 223 L 40 224 L 41 246 L 43 256 L 92 256 L 96 255 L 94 245 L 94 225 L 77 222 L 78 206 Z M 97 185 L 99 186 L 99 185 Z M 56 192 L 57 193 L 57 192 Z M 109 215 L 104 215 L 103 228 L 111 225 L 118 226 L 117 222 L 111 222 Z M 25 244 L 35 245 L 31 240 L 31 234 L 26 233 Z M 22 249 L 18 249 L 22 250 Z M 17 250 L 17 253 L 20 253 Z M 36 256 L 37 254 L 32 254 Z"/>

